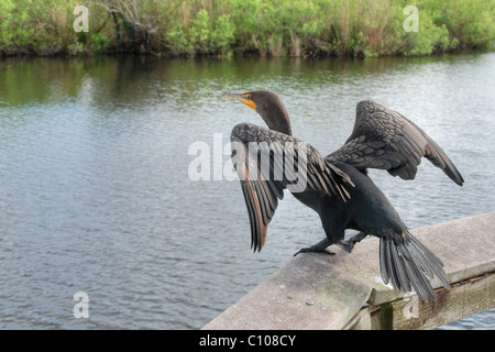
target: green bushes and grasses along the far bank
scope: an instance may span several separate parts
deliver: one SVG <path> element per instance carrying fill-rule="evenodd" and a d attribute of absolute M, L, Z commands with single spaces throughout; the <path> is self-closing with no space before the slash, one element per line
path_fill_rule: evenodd
<path fill-rule="evenodd" d="M 78 4 L 89 32 L 73 29 Z M 495 0 L 1 0 L 0 55 L 429 55 L 491 48 L 494 23 Z"/>

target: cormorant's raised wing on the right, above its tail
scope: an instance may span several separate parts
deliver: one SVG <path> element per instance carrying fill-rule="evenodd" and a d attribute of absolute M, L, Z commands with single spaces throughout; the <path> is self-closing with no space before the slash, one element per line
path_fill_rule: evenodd
<path fill-rule="evenodd" d="M 425 131 L 400 113 L 364 100 L 358 103 L 351 136 L 327 158 L 363 170 L 381 168 L 392 176 L 414 179 L 422 156 L 462 186 L 464 179 L 455 165 Z"/>

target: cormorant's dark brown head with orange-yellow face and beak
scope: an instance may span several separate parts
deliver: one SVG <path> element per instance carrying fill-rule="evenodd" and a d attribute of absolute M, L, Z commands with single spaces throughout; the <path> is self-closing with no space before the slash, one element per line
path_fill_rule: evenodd
<path fill-rule="evenodd" d="M 224 92 L 222 98 L 241 101 L 256 111 L 271 130 L 292 135 L 287 110 L 276 94 L 266 90 L 254 90 L 245 94 Z"/>

